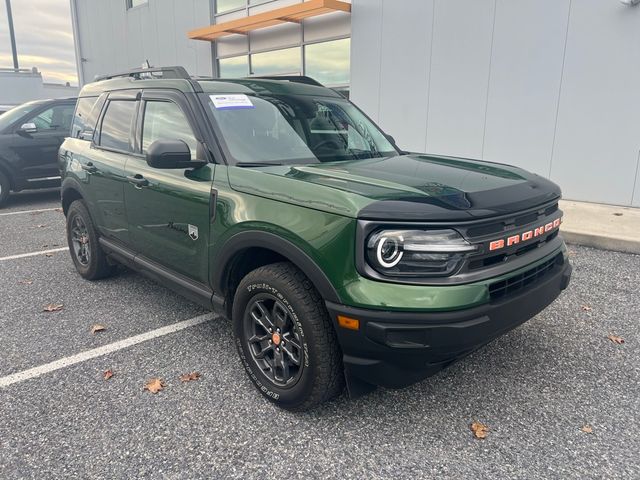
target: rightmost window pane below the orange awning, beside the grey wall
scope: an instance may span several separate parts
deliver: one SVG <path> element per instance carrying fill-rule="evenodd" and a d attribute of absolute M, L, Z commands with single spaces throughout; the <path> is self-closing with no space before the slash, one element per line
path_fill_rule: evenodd
<path fill-rule="evenodd" d="M 350 38 L 307 45 L 305 75 L 323 85 L 348 85 L 350 50 Z"/>

